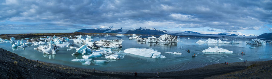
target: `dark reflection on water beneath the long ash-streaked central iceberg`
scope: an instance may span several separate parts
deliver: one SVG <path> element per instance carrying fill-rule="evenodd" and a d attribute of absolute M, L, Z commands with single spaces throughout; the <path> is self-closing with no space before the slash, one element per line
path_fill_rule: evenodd
<path fill-rule="evenodd" d="M 176 47 L 177 42 L 170 42 L 170 43 L 149 43 L 149 42 L 142 42 L 137 41 L 137 44 L 146 44 L 147 46 L 167 46 L 167 47 Z"/>

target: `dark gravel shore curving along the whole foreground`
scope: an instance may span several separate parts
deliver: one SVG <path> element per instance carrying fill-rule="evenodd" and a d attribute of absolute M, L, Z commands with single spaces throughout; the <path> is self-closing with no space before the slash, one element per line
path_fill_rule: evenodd
<path fill-rule="evenodd" d="M 131 78 L 158 78 L 154 73 L 134 73 L 128 72 L 110 72 L 96 71 L 92 69 L 74 68 L 64 65 L 29 60 L 15 53 L 0 48 L 1 70 L 0 78 L 110 78 L 110 79 L 131 79 Z M 229 65 L 214 64 L 203 68 L 195 68 L 184 71 L 160 72 L 159 78 L 185 78 L 185 79 L 202 79 L 202 78 L 271 78 L 272 60 L 259 62 L 235 62 Z"/>

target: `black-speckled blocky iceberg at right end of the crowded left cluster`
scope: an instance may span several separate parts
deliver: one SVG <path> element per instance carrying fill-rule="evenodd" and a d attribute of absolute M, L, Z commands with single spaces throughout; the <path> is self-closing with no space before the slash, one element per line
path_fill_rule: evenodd
<path fill-rule="evenodd" d="M 107 47 L 107 48 L 119 48 L 122 47 L 122 42 L 124 40 L 100 40 L 95 41 L 96 45 L 100 47 Z"/>

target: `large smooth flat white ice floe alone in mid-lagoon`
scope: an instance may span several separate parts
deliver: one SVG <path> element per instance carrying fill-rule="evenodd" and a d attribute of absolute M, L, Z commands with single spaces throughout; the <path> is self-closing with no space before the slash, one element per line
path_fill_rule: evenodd
<path fill-rule="evenodd" d="M 124 50 L 125 53 L 130 53 L 134 55 L 150 57 L 150 58 L 160 58 L 164 57 L 160 55 L 161 53 L 154 49 L 146 49 L 146 48 L 129 48 Z"/>

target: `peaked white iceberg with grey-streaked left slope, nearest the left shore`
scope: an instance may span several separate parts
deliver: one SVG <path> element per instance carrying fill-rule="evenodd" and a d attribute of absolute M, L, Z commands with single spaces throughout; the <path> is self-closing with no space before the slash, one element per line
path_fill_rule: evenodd
<path fill-rule="evenodd" d="M 53 46 L 51 43 L 48 43 L 48 45 L 39 46 L 37 48 L 34 48 L 34 50 L 38 50 L 45 54 L 56 54 L 55 50 L 57 50 L 57 47 Z"/>

